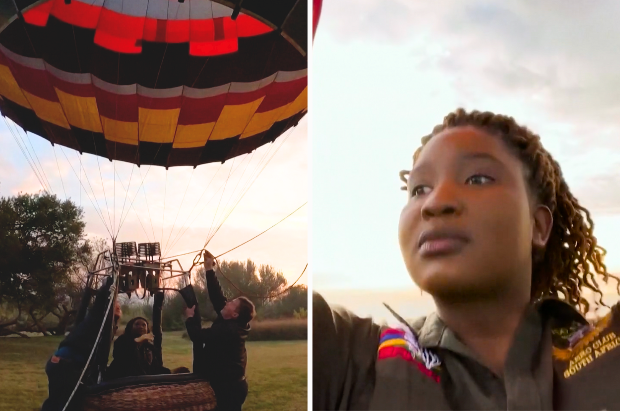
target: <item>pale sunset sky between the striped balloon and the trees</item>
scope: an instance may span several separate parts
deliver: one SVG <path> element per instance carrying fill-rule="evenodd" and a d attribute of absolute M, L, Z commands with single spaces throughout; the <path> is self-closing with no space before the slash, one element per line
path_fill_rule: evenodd
<path fill-rule="evenodd" d="M 159 241 L 165 256 L 201 249 L 210 237 L 208 249 L 217 256 L 308 201 L 306 118 L 252 154 L 195 170 L 138 168 L 80 156 L 71 149 L 51 147 L 9 120 L 0 121 L 0 139 L 0 196 L 37 193 L 43 189 L 42 180 L 51 193 L 83 207 L 87 236 L 110 238 L 110 233 L 118 233 L 119 242 Z M 184 269 L 193 257 L 179 257 Z M 248 258 L 281 270 L 290 283 L 297 279 L 308 262 L 307 207 L 222 257 Z M 307 274 L 299 282 L 308 283 Z"/>

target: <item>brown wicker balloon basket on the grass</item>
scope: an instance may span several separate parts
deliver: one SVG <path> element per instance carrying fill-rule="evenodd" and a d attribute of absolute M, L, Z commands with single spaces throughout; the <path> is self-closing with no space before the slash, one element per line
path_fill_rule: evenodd
<path fill-rule="evenodd" d="M 84 411 L 206 411 L 216 408 L 208 381 L 194 374 L 120 378 L 89 387 Z"/>

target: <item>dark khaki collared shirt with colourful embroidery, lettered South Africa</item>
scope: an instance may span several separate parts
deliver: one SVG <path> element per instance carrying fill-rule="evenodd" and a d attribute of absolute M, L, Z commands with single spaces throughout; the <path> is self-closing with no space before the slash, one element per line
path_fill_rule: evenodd
<path fill-rule="evenodd" d="M 436 314 L 382 327 L 313 293 L 314 410 L 620 410 L 620 308 L 533 304 L 500 378 Z"/>

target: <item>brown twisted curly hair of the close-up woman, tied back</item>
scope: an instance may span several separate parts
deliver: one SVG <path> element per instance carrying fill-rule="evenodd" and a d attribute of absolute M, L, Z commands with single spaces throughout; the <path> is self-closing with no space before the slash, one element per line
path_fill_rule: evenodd
<path fill-rule="evenodd" d="M 555 296 L 587 313 L 590 305 L 582 296 L 583 287 L 595 292 L 597 303 L 604 306 L 603 293 L 596 282 L 597 275 L 602 275 L 604 282 L 608 282 L 610 277 L 616 280 L 620 293 L 620 279 L 609 274 L 603 263 L 606 251 L 597 244 L 593 235 L 594 223 L 590 212 L 570 192 L 560 165 L 542 147 L 540 137 L 517 124 L 514 118 L 489 111 L 468 113 L 459 108 L 445 116 L 443 123 L 435 126 L 431 134 L 422 137 L 422 145 L 414 153 L 414 163 L 433 136 L 459 126 L 472 126 L 502 138 L 525 165 L 530 193 L 539 204 L 546 205 L 552 212 L 553 227 L 546 247 L 532 250 L 532 300 Z M 408 170 L 400 173 L 405 183 L 408 174 Z"/>

